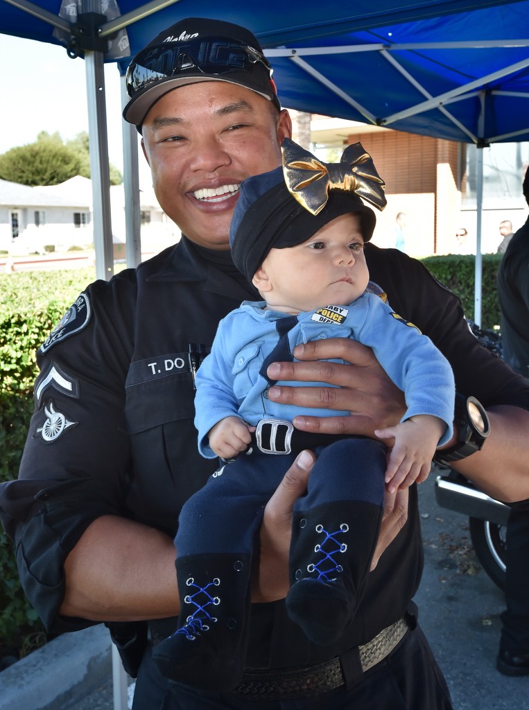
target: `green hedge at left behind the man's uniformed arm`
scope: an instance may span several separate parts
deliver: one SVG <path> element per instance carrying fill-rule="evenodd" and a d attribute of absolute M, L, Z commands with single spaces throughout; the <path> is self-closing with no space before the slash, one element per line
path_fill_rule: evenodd
<path fill-rule="evenodd" d="M 36 349 L 92 280 L 93 268 L 0 274 L 0 481 L 18 474 L 33 411 Z M 23 655 L 44 638 L 23 595 L 11 540 L 0 527 L 0 645 Z"/>

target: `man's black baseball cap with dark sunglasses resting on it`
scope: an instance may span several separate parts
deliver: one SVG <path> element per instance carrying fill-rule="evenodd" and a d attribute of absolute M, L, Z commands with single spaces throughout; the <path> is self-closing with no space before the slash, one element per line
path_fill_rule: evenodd
<path fill-rule="evenodd" d="M 126 74 L 131 100 L 123 117 L 139 127 L 164 94 L 211 81 L 251 89 L 280 110 L 272 72 L 261 45 L 246 28 L 222 20 L 187 18 L 160 32 L 131 60 Z"/>

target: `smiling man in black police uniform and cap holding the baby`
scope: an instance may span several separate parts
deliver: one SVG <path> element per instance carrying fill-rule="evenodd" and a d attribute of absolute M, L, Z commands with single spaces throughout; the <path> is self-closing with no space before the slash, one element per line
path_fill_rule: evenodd
<path fill-rule="evenodd" d="M 266 508 L 253 583 L 253 601 L 266 603 L 253 605 L 239 689 L 201 695 L 168 684 L 153 667 L 153 645 L 180 611 L 175 520 L 215 467 L 194 444 L 193 373 L 219 319 L 254 296 L 228 251 L 237 190 L 249 175 L 279 165 L 290 119 L 256 39 L 220 21 L 168 28 L 133 60 L 128 84 L 124 116 L 142 132 L 158 200 L 185 236 L 136 271 L 89 286 L 40 349 L 21 471 L 0 491 L 28 597 L 55 631 L 109 623 L 138 674 L 135 710 L 450 708 L 410 601 L 422 569 L 415 486 L 407 522 L 403 493 L 387 496 L 378 564 L 337 643 L 312 645 L 288 620 L 290 513 L 310 472 L 308 452 Z M 420 263 L 371 244 L 366 260 L 393 307 L 454 369 L 464 396 L 443 460 L 496 498 L 529 498 L 528 386 L 469 334 L 459 300 Z M 296 417 L 296 427 L 373 436 L 400 420 L 402 394 L 363 346 L 329 339 L 295 356 L 302 361 L 272 364 L 268 376 L 340 388 L 276 386 L 269 396 L 352 415 Z M 488 419 L 479 405 L 471 425 L 469 395 Z"/>

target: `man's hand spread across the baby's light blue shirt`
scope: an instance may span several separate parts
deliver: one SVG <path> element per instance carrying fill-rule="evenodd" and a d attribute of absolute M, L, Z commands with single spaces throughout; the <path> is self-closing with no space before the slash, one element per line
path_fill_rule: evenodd
<path fill-rule="evenodd" d="M 301 408 L 349 411 L 348 417 L 294 417 L 297 429 L 325 434 L 357 434 L 376 438 L 375 429 L 398 424 L 405 413 L 405 400 L 373 355 L 371 348 L 347 338 L 317 340 L 298 345 L 294 356 L 303 362 L 280 362 L 268 366 L 274 380 L 326 382 L 334 387 L 273 386 L 273 402 Z M 347 365 L 325 362 L 340 359 Z"/>

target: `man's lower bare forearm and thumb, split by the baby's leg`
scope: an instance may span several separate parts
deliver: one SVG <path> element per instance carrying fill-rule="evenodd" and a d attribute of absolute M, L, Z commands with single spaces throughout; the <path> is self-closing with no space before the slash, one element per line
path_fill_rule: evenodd
<path fill-rule="evenodd" d="M 266 505 L 253 601 L 276 601 L 288 592 L 292 511 L 314 461 L 313 454 L 301 452 Z M 180 613 L 173 541 L 126 518 L 94 520 L 68 555 L 65 574 L 63 616 L 141 621 Z"/>

